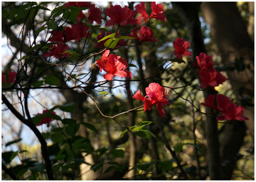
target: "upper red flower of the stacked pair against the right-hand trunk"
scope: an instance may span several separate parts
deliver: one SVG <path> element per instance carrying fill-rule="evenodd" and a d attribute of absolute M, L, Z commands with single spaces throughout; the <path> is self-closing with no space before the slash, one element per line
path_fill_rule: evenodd
<path fill-rule="evenodd" d="M 199 56 L 196 57 L 197 63 L 199 65 L 194 63 L 194 66 L 198 69 L 198 70 L 205 70 L 207 69 L 212 69 L 214 63 L 212 62 L 212 57 L 206 55 L 205 53 L 200 53 Z"/>

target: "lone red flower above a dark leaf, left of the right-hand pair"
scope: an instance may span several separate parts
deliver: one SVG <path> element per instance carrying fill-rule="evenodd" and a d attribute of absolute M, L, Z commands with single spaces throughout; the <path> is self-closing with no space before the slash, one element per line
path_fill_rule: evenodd
<path fill-rule="evenodd" d="M 177 56 L 177 59 L 182 59 L 182 55 L 192 55 L 191 51 L 187 51 L 187 49 L 190 47 L 190 43 L 188 41 L 184 42 L 182 38 L 177 38 L 176 41 L 173 41 L 173 46 L 176 49 L 176 51 L 174 51 L 174 54 Z"/>

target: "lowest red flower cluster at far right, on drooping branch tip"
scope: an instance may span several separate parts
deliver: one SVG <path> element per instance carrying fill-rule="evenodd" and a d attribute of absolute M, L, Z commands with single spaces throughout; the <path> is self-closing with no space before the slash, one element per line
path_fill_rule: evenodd
<path fill-rule="evenodd" d="M 214 104 L 215 95 L 210 94 L 209 97 L 205 99 L 205 103 L 201 103 L 201 105 L 211 107 L 215 109 L 215 111 L 221 112 L 223 116 L 218 116 L 216 118 L 217 120 L 249 120 L 249 118 L 243 117 L 244 107 L 236 106 L 235 103 L 231 103 L 231 100 L 225 95 L 218 94 L 216 97 L 216 101 L 218 104 L 217 107 Z"/>

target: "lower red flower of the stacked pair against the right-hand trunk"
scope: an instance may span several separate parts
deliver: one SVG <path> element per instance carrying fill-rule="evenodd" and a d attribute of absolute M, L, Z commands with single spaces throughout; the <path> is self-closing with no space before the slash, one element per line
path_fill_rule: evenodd
<path fill-rule="evenodd" d="M 210 85 L 212 87 L 217 87 L 227 80 L 227 78 L 225 76 L 222 76 L 222 74 L 216 71 L 216 69 L 200 70 L 198 72 L 198 75 L 201 77 L 198 79 L 202 81 L 202 83 L 200 83 L 200 87 L 202 88 L 206 88 L 207 85 Z"/>

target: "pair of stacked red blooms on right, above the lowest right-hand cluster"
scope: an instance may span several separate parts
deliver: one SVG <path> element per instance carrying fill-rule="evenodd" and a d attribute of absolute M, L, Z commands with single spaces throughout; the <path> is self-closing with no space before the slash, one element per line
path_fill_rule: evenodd
<path fill-rule="evenodd" d="M 200 87 L 206 88 L 207 85 L 217 87 L 227 80 L 225 76 L 222 76 L 220 72 L 213 68 L 214 63 L 212 62 L 211 56 L 200 53 L 200 55 L 196 57 L 196 60 L 198 65 L 194 63 L 194 66 L 199 70 Z"/>

